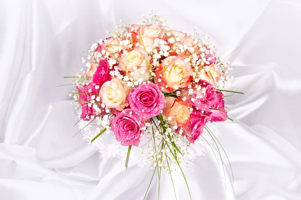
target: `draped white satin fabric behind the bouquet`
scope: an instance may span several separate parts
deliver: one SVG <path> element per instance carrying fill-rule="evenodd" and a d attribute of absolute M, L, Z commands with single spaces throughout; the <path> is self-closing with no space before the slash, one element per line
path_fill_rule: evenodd
<path fill-rule="evenodd" d="M 232 61 L 226 100 L 235 122 L 219 123 L 231 161 L 227 180 L 213 153 L 184 169 L 192 198 L 301 199 L 300 0 L 1 0 L 0 199 L 143 199 L 152 169 L 124 168 L 87 145 L 73 124 L 63 76 L 74 75 L 95 39 L 122 18 L 135 23 L 150 9 L 177 29 L 208 33 Z M 78 66 L 79 68 L 77 68 Z M 224 158 L 225 159 L 225 158 Z M 180 171 L 177 197 L 189 199 Z M 146 199 L 157 199 L 155 176 Z M 174 199 L 167 173 L 160 199 Z"/>

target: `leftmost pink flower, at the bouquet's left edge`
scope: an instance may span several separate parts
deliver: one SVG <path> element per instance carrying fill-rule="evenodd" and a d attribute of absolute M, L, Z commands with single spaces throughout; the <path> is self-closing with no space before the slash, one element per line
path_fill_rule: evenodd
<path fill-rule="evenodd" d="M 86 102 L 79 102 L 79 104 L 81 105 L 82 108 L 82 113 L 80 115 L 80 117 L 85 120 L 88 121 L 91 119 L 91 115 L 95 115 L 95 109 L 93 106 L 89 106 L 87 102 L 91 102 L 92 99 L 92 95 L 97 96 L 98 92 L 99 92 L 99 88 L 95 89 L 96 84 L 94 84 L 93 82 L 90 82 L 88 85 L 84 85 L 82 87 L 76 86 L 77 90 L 78 90 L 78 100 L 79 101 L 86 101 Z M 91 89 L 89 91 L 89 89 Z M 96 100 L 96 99 L 94 99 Z M 102 110 L 103 111 L 103 110 Z"/>

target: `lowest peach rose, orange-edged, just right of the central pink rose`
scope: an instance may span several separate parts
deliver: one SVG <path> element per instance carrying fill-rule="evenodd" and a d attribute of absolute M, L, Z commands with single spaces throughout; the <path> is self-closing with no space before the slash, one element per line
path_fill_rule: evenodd
<path fill-rule="evenodd" d="M 190 121 L 190 111 L 188 103 L 182 100 L 179 100 L 172 96 L 166 96 L 166 107 L 163 109 L 163 116 L 165 119 L 171 117 L 171 123 L 185 126 Z"/>

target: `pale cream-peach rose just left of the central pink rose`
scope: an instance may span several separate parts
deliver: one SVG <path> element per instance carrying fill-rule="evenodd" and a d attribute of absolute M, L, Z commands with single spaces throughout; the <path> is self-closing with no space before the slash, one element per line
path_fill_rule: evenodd
<path fill-rule="evenodd" d="M 101 102 L 108 108 L 115 108 L 122 111 L 124 107 L 128 106 L 127 95 L 129 88 L 126 83 L 117 78 L 112 78 L 103 83 L 99 90 Z"/>

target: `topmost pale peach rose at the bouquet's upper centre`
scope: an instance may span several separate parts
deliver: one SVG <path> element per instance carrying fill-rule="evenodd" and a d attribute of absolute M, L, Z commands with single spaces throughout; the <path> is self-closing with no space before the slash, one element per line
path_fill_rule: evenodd
<path fill-rule="evenodd" d="M 152 47 L 156 38 L 162 38 L 165 32 L 160 25 L 141 25 L 137 29 L 138 42 L 144 49 Z"/>

